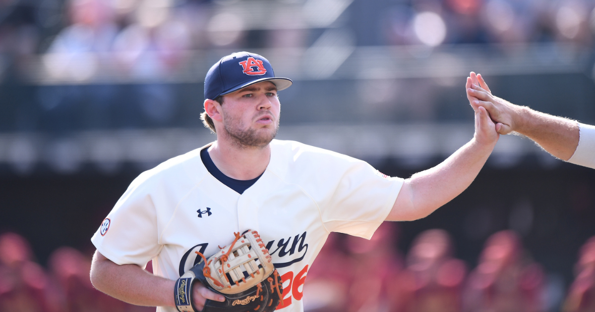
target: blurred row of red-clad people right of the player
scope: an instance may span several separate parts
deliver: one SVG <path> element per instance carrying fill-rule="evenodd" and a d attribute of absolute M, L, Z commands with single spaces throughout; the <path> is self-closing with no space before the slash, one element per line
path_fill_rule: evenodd
<path fill-rule="evenodd" d="M 308 271 L 306 311 L 595 311 L 595 237 L 578 255 L 568 292 L 551 302 L 544 268 L 514 231 L 488 237 L 477 266 L 469 268 L 441 229 L 421 232 L 401 254 L 396 226 L 384 222 L 371 241 L 331 234 Z"/>

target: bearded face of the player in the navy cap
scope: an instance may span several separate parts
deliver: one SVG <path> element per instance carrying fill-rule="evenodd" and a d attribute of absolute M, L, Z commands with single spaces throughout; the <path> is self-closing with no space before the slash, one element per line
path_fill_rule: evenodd
<path fill-rule="evenodd" d="M 281 104 L 270 81 L 253 84 L 223 96 L 224 131 L 244 147 L 264 147 L 279 128 Z"/>

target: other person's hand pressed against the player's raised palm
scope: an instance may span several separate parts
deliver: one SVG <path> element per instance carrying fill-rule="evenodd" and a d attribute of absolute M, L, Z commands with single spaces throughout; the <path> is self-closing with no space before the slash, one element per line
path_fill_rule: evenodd
<path fill-rule="evenodd" d="M 509 134 L 516 131 L 519 125 L 518 118 L 522 115 L 521 106 L 514 105 L 491 94 L 490 88 L 483 77 L 473 72 L 467 77 L 466 89 L 469 104 L 471 104 L 475 114 L 477 114 L 480 107 L 486 109 L 491 120 L 496 124 L 497 133 Z"/>

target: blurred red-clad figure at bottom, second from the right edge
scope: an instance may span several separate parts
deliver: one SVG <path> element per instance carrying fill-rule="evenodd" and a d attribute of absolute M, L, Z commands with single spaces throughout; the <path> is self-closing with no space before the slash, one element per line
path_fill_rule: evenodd
<path fill-rule="evenodd" d="M 491 235 L 469 274 L 464 311 L 544 311 L 544 274 L 513 231 Z"/>

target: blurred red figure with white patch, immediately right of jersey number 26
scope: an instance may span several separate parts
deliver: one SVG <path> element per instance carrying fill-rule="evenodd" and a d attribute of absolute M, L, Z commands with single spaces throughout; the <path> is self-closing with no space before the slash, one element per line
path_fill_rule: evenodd
<path fill-rule="evenodd" d="M 316 260 L 308 269 L 303 285 L 306 312 L 345 311 L 352 267 L 342 248 L 344 235 L 331 232 Z"/>

